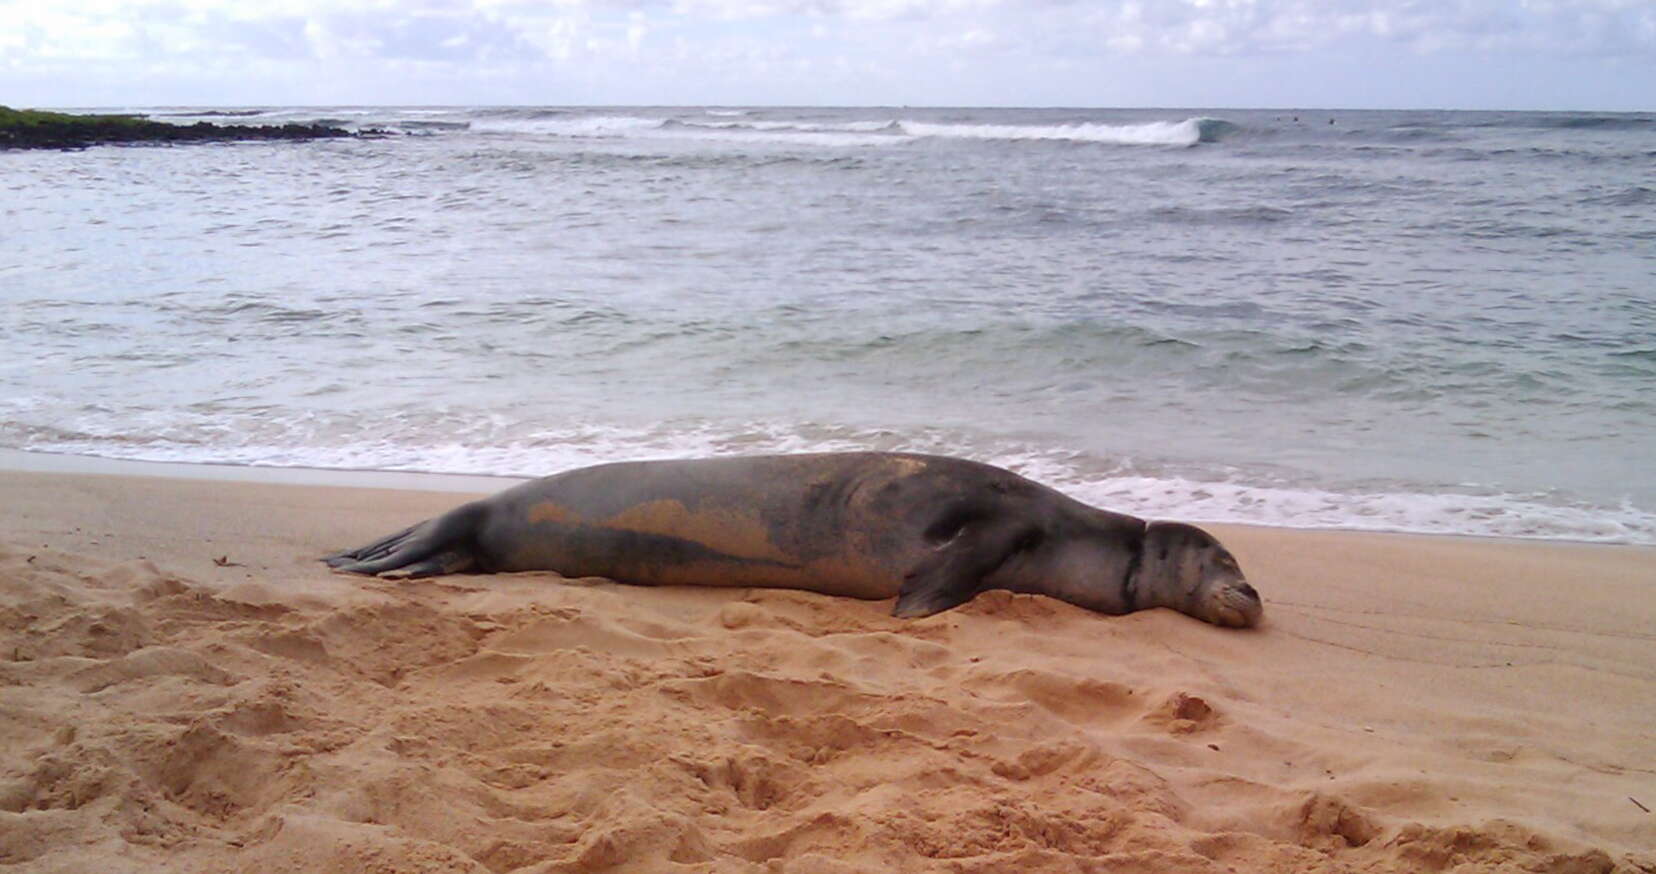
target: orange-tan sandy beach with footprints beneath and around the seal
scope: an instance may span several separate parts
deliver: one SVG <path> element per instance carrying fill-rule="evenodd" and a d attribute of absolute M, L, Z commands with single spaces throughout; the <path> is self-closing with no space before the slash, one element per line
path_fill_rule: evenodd
<path fill-rule="evenodd" d="M 1237 632 L 315 561 L 452 493 L 0 502 L 0 867 L 1656 871 L 1651 550 L 1219 528 Z"/>

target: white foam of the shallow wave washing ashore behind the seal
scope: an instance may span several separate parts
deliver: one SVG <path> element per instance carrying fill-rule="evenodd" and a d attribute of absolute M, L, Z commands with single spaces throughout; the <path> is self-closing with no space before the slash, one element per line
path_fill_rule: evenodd
<path fill-rule="evenodd" d="M 154 422 L 161 425 L 157 419 Z M 295 432 L 315 424 L 295 424 Z M 1076 459 L 1063 450 L 1018 440 L 964 440 L 939 432 L 859 432 L 816 425 L 749 424 L 737 429 L 662 424 L 647 429 L 609 425 L 546 429 L 502 439 L 508 422 L 487 417 L 452 440 L 407 442 L 397 437 L 303 445 L 288 439 L 245 439 L 233 427 L 169 422 L 149 435 L 38 432 L 25 450 L 149 462 L 233 463 L 338 470 L 394 470 L 538 477 L 575 467 L 643 459 L 753 455 L 770 452 L 914 450 L 975 457 L 1017 470 L 1086 503 L 1144 518 L 1177 518 L 1272 525 L 1656 545 L 1656 513 L 1631 505 L 1593 507 L 1552 495 L 1456 493 L 1288 487 L 1270 477 L 1234 473 L 1202 478 L 1177 468 L 1144 473 L 1131 463 Z M 326 430 L 326 429 L 318 429 Z M 388 434 L 409 429 L 388 427 Z"/>

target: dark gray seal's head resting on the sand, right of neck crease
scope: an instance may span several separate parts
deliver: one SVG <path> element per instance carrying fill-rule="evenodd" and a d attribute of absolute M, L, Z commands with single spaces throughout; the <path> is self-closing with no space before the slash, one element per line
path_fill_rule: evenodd
<path fill-rule="evenodd" d="M 1139 604 L 1172 607 L 1227 627 L 1252 627 L 1264 616 L 1265 606 L 1235 556 L 1207 531 L 1153 521 L 1141 550 L 1131 581 Z"/>

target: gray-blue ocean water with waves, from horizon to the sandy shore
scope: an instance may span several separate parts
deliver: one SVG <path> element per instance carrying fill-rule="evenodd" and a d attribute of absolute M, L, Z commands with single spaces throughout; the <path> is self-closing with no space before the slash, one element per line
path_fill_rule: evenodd
<path fill-rule="evenodd" d="M 0 152 L 3 449 L 1656 543 L 1656 116 L 137 111 L 389 134 Z"/>

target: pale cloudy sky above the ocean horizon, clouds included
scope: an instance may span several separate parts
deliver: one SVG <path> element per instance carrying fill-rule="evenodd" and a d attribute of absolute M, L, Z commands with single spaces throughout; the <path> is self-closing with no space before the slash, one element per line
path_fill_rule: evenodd
<path fill-rule="evenodd" d="M 1656 0 L 0 0 L 0 104 L 1656 109 Z"/>

